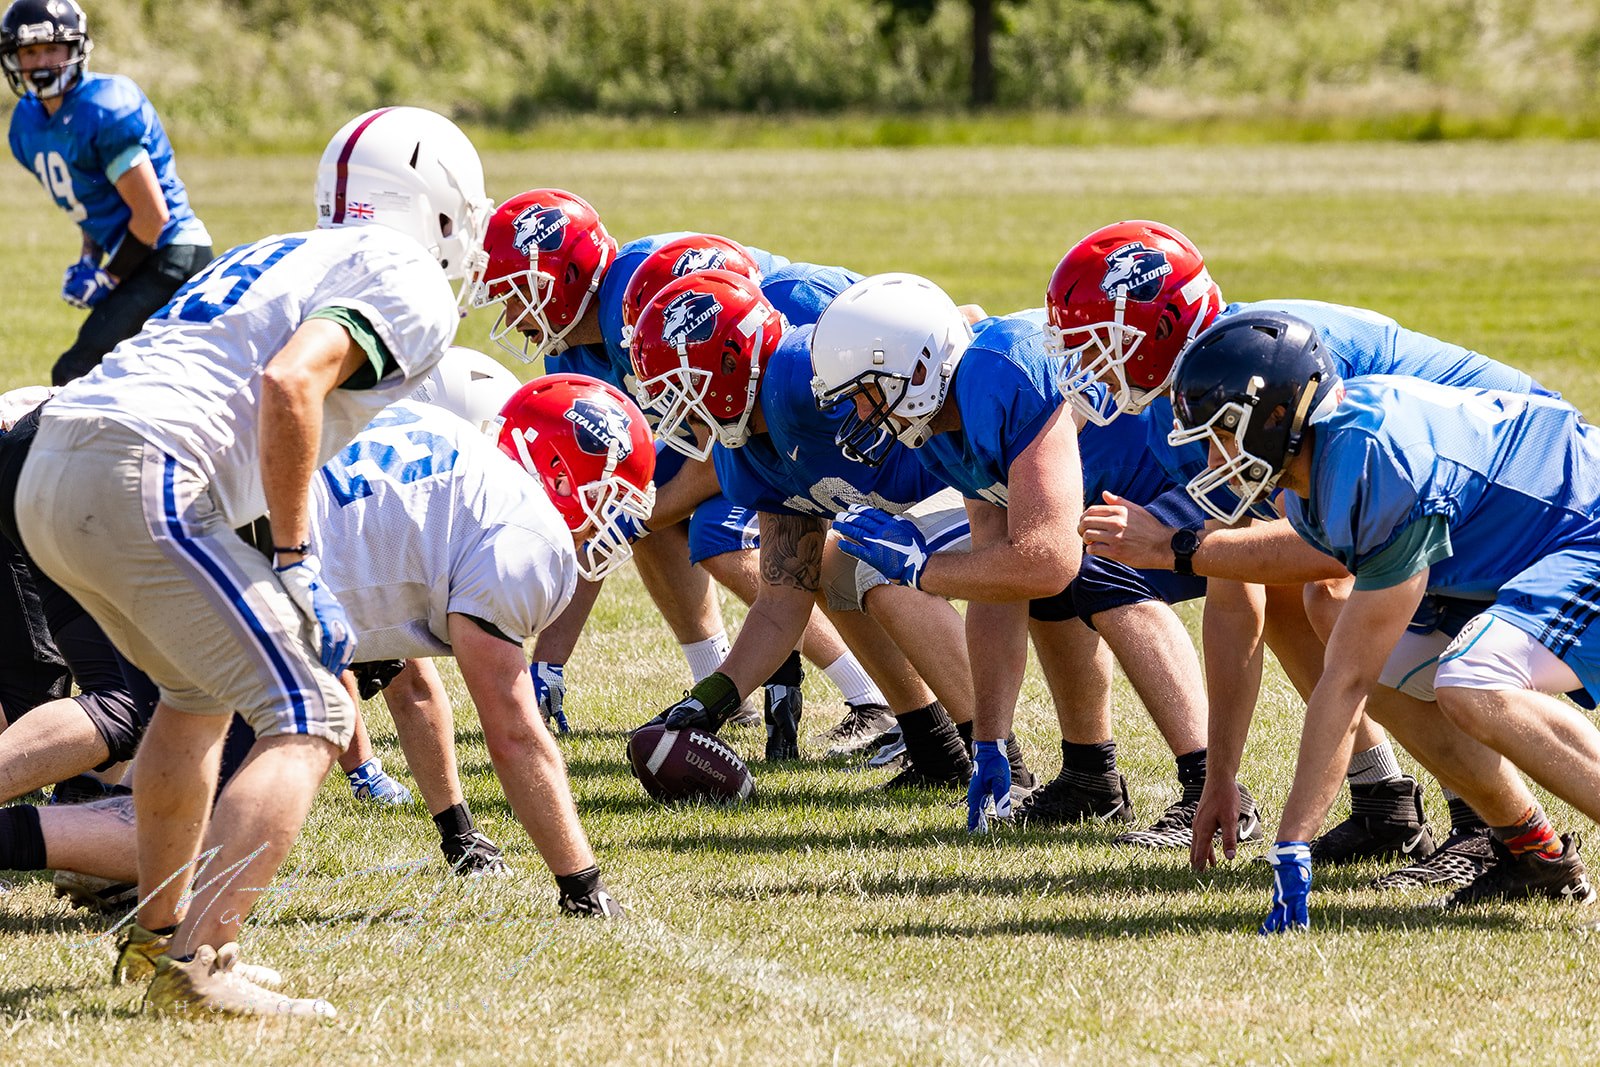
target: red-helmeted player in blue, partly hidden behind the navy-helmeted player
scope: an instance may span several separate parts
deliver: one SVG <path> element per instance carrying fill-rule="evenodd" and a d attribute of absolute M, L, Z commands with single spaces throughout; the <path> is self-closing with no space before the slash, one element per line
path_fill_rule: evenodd
<path fill-rule="evenodd" d="M 1403 330 L 1376 312 L 1317 301 L 1224 304 L 1200 251 L 1182 234 L 1160 222 L 1118 222 L 1085 237 L 1056 267 L 1046 304 L 1050 341 L 1061 360 L 1061 384 L 1075 410 L 1091 422 L 1154 411 L 1152 426 L 1160 437 L 1165 437 L 1171 419 L 1166 389 L 1179 352 L 1218 318 L 1253 309 L 1288 310 L 1314 323 L 1346 378 L 1394 373 L 1442 384 L 1544 392 L 1522 371 Z M 1152 440 L 1154 450 L 1163 446 L 1165 442 Z M 1182 477 L 1195 474 L 1200 472 L 1190 470 Z M 1275 515 L 1269 512 L 1266 517 Z M 1294 581 L 1294 574 L 1283 576 L 1288 584 L 1269 584 L 1264 590 L 1226 581 L 1211 561 L 1221 542 L 1210 545 L 1195 561 L 1200 542 L 1210 539 L 1216 526 L 1219 523 L 1211 522 L 1203 531 L 1178 531 L 1170 523 L 1152 522 L 1133 502 L 1091 499 L 1085 507 L 1083 533 L 1094 557 L 1139 568 L 1182 566 L 1211 576 L 1205 627 L 1206 681 L 1211 731 L 1219 737 L 1211 749 L 1213 760 L 1232 760 L 1242 750 L 1254 707 L 1262 632 L 1296 688 L 1309 696 L 1322 670 L 1323 646 L 1317 629 L 1325 632 L 1331 627 L 1350 579 L 1334 561 L 1322 560 L 1322 569 L 1314 568 L 1299 577 L 1301 582 L 1307 577 L 1322 581 L 1304 585 Z M 1277 536 L 1291 537 L 1282 523 L 1277 530 Z M 1229 536 L 1234 534 L 1248 531 Z M 1262 530 L 1258 534 L 1270 536 Z M 1141 549 L 1138 553 L 1136 544 Z M 1269 552 L 1258 545 L 1256 552 L 1246 549 L 1242 555 L 1250 555 L 1242 576 L 1251 582 L 1270 579 L 1274 557 Z M 1315 629 L 1306 617 L 1307 611 L 1317 616 Z M 1390 681 L 1403 678 L 1402 672 Z M 1411 693 L 1430 699 L 1419 681 L 1413 683 Z M 1381 689 L 1373 697 L 1373 710 L 1386 709 L 1390 699 L 1390 693 Z M 1224 769 L 1237 771 L 1237 766 Z M 1224 801 L 1218 817 L 1224 825 L 1224 851 L 1230 854 L 1230 798 L 1222 795 L 1229 781 L 1227 774 L 1214 779 L 1214 797 Z M 1410 867 L 1408 875 L 1386 885 L 1464 885 L 1491 859 L 1486 827 L 1448 787 L 1451 833 L 1442 854 L 1430 856 L 1434 838 L 1422 816 L 1422 790 L 1402 773 L 1384 733 L 1366 717 L 1347 781 L 1352 814 L 1312 843 L 1318 862 L 1402 856 L 1421 865 Z M 1202 809 L 1210 813 L 1213 808 L 1202 805 Z M 1210 848 L 1205 851 L 1210 853 Z M 1202 859 L 1198 851 L 1195 857 Z"/>

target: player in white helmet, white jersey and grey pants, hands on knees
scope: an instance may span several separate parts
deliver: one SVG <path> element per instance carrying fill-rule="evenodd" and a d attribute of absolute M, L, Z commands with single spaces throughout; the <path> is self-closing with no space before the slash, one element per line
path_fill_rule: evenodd
<path fill-rule="evenodd" d="M 134 760 L 147 1003 L 326 1014 L 234 971 L 240 921 L 288 854 L 355 704 L 350 621 L 310 545 L 317 467 L 434 368 L 459 322 L 450 277 L 482 254 L 483 168 L 446 118 L 386 107 L 334 134 L 318 229 L 214 261 L 40 413 L 14 498 L 21 542 L 160 686 Z M 272 514 L 269 561 L 234 531 Z M 216 750 L 256 745 L 211 813 Z M 202 845 L 237 864 L 184 909 Z"/>

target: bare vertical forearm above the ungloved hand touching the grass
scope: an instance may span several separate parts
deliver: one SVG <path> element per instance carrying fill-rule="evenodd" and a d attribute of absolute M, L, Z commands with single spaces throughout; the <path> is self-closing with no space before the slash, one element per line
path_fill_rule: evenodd
<path fill-rule="evenodd" d="M 1206 765 L 1219 777 L 1238 777 L 1250 720 L 1261 693 L 1264 598 L 1259 585 L 1226 579 L 1206 582 L 1200 638 L 1206 678 Z"/>

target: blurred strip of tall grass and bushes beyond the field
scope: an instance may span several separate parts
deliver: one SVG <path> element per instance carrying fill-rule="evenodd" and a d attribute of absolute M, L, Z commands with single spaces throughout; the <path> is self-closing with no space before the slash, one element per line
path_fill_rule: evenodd
<path fill-rule="evenodd" d="M 1408 117 L 1600 130 L 1600 0 L 86 0 L 94 66 L 187 136 L 310 141 L 403 101 L 563 117 Z M 1418 118 L 1421 117 L 1421 118 Z M 1450 123 L 1454 122 L 1454 126 Z M 1462 125 L 1466 123 L 1466 125 Z M 1474 126 L 1477 123 L 1477 126 Z"/>

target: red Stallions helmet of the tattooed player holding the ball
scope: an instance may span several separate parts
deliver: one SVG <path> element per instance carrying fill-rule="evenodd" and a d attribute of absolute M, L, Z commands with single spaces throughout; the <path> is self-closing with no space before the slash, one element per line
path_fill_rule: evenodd
<path fill-rule="evenodd" d="M 762 368 L 782 338 L 782 315 L 742 275 L 699 270 L 667 283 L 640 312 L 630 349 L 656 437 L 693 459 L 712 442 L 744 445 Z M 704 445 L 691 421 L 710 427 Z"/>

